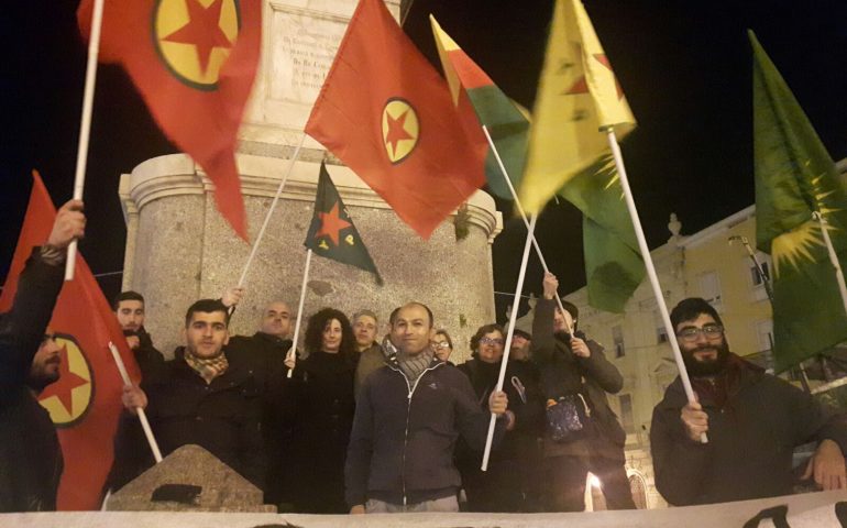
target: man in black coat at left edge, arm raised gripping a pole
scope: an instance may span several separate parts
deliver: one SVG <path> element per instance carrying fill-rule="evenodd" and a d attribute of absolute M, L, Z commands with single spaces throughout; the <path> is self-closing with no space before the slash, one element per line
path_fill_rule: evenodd
<path fill-rule="evenodd" d="M 56 509 L 63 460 L 56 430 L 37 394 L 58 380 L 58 346 L 47 323 L 62 290 L 68 244 L 85 233 L 82 202 L 56 215 L 35 248 L 0 319 L 0 512 Z"/>

